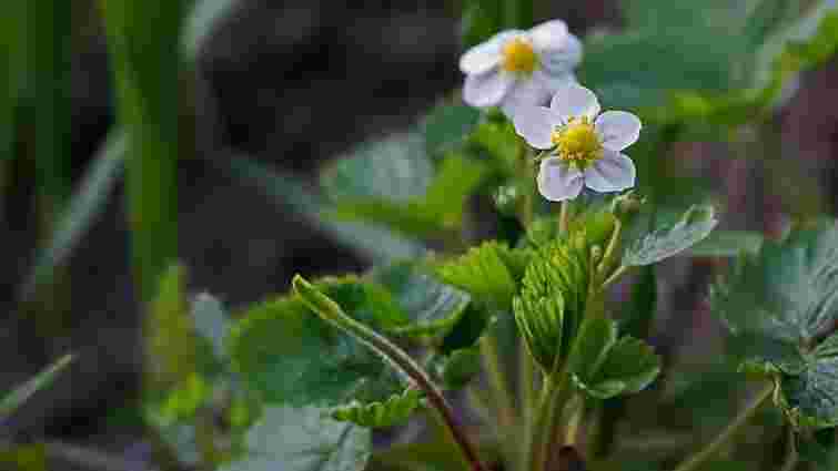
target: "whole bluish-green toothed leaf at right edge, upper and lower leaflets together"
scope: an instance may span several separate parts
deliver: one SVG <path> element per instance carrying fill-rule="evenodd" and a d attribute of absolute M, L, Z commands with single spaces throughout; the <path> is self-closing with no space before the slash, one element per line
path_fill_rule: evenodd
<path fill-rule="evenodd" d="M 798 228 L 740 258 L 713 293 L 748 371 L 778 375 L 794 423 L 838 424 L 838 338 L 819 342 L 838 319 L 838 229 L 832 221 Z"/>

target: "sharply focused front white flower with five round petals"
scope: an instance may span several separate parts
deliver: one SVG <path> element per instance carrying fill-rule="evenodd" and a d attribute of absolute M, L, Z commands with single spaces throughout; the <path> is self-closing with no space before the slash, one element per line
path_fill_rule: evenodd
<path fill-rule="evenodd" d="M 513 123 L 529 145 L 552 151 L 538 170 L 538 191 L 545 198 L 573 199 L 583 186 L 600 193 L 634 186 L 634 163 L 620 151 L 639 137 L 640 120 L 625 111 L 599 114 L 590 90 L 567 85 L 549 107 L 518 109 Z"/>

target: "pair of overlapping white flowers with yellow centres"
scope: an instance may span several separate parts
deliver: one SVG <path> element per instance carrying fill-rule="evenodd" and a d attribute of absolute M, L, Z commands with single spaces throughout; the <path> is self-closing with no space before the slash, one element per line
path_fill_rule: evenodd
<path fill-rule="evenodd" d="M 501 106 L 515 131 L 546 152 L 537 182 L 549 201 L 573 199 L 585 186 L 619 192 L 635 185 L 634 163 L 622 151 L 639 137 L 640 120 L 625 111 L 600 113 L 596 95 L 576 82 L 580 60 L 582 44 L 561 20 L 501 32 L 460 60 L 464 101 Z"/>

